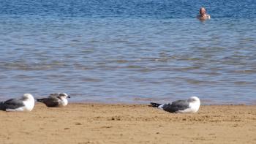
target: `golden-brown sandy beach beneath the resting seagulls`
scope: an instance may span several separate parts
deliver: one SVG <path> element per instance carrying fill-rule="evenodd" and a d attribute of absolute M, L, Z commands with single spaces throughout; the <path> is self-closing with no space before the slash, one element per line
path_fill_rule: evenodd
<path fill-rule="evenodd" d="M 201 106 L 173 114 L 147 105 L 37 104 L 0 112 L 0 143 L 256 143 L 256 105 Z"/>

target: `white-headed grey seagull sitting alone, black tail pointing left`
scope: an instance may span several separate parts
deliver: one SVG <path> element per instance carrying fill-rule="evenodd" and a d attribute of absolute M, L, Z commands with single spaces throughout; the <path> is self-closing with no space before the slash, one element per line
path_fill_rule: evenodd
<path fill-rule="evenodd" d="M 189 99 L 177 100 L 163 105 L 151 102 L 151 106 L 170 113 L 197 113 L 200 99 L 197 96 L 192 96 Z"/>

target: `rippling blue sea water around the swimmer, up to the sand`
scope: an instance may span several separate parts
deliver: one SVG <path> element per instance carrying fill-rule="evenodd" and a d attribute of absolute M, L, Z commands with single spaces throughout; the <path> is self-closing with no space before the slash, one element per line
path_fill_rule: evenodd
<path fill-rule="evenodd" d="M 56 92 L 255 105 L 256 1 L 0 0 L 0 100 Z"/>

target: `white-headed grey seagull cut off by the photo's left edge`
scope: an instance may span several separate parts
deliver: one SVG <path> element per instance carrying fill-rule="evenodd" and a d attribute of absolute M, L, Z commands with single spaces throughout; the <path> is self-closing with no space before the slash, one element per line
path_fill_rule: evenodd
<path fill-rule="evenodd" d="M 31 94 L 23 94 L 20 99 L 9 99 L 0 102 L 0 110 L 7 112 L 31 111 L 34 108 L 34 97 Z"/>

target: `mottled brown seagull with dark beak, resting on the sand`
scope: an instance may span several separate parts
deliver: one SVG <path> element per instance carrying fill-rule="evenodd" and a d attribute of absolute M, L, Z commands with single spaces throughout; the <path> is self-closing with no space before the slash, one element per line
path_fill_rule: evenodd
<path fill-rule="evenodd" d="M 37 102 L 42 102 L 48 107 L 65 107 L 67 106 L 67 98 L 70 98 L 66 93 L 50 94 L 47 98 L 37 99 Z"/>

